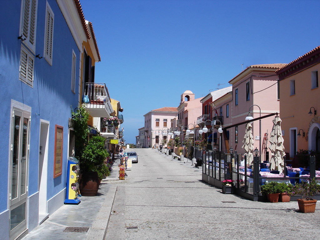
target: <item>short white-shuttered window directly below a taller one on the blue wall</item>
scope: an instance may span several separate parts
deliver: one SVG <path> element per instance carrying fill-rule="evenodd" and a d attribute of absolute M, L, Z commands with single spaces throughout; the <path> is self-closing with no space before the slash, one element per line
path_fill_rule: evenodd
<path fill-rule="evenodd" d="M 20 54 L 20 80 L 29 86 L 33 86 L 33 70 L 34 70 L 34 55 L 31 54 L 25 47 L 21 46 Z"/>

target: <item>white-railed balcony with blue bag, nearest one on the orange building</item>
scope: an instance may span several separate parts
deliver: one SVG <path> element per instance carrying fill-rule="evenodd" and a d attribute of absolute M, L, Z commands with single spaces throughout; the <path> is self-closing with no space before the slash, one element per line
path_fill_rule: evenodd
<path fill-rule="evenodd" d="M 108 89 L 104 83 L 85 83 L 82 102 L 92 117 L 109 117 L 113 112 Z"/>

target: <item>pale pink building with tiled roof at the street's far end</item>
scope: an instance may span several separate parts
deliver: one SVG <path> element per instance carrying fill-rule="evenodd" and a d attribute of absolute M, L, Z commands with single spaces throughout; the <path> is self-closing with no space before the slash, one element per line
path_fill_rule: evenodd
<path fill-rule="evenodd" d="M 177 117 L 177 113 L 177 108 L 164 107 L 154 109 L 143 115 L 145 135 L 144 145 L 141 147 L 157 148 L 160 144 L 166 147 L 171 120 Z"/>

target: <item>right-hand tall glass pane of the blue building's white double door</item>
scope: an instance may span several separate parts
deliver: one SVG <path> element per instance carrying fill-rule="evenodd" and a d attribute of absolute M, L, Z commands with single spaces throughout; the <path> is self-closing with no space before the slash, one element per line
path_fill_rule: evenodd
<path fill-rule="evenodd" d="M 21 183 L 20 183 L 20 195 L 26 193 L 26 180 L 27 180 L 27 152 L 28 152 L 28 118 L 23 118 L 23 130 L 22 130 L 22 152 L 21 152 Z"/>

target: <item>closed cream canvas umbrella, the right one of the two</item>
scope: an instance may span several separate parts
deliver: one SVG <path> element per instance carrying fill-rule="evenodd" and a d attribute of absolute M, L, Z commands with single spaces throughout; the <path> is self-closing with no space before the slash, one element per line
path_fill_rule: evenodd
<path fill-rule="evenodd" d="M 284 146 L 281 131 L 281 119 L 276 116 L 273 120 L 273 127 L 269 139 L 269 149 L 271 151 L 270 170 L 284 172 Z"/>

